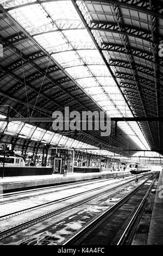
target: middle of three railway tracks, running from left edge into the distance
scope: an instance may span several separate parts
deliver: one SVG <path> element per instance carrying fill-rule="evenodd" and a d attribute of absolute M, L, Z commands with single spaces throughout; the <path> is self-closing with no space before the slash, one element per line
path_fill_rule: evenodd
<path fill-rule="evenodd" d="M 39 209 L 39 208 L 42 208 L 42 207 L 46 207 L 47 205 L 49 204 L 56 204 L 58 202 L 61 202 L 61 201 L 64 201 L 64 200 L 67 200 L 67 199 L 70 199 L 70 198 L 75 198 L 75 197 L 78 197 L 80 195 L 83 195 L 83 194 L 86 194 L 88 192 L 92 192 L 92 191 L 99 191 L 99 190 L 102 190 L 103 188 L 106 188 L 105 191 L 102 191 L 102 192 L 99 192 L 98 194 L 95 194 L 93 196 L 89 196 L 89 197 L 86 197 L 84 199 L 80 199 L 80 200 L 77 200 L 77 202 L 74 202 L 74 203 L 71 203 L 71 204 L 68 204 L 68 205 L 64 205 L 62 206 L 61 208 L 57 209 L 57 210 L 53 210 L 53 211 L 48 211 L 46 212 L 46 214 L 42 214 L 40 216 L 37 216 L 35 218 L 32 218 L 28 221 L 24 221 L 18 225 L 15 225 L 14 227 L 10 227 L 10 228 L 7 228 L 5 230 L 2 230 L 0 232 L 0 240 L 4 239 L 5 237 L 7 236 L 10 236 L 18 231 L 21 231 L 23 229 L 26 229 L 36 223 L 39 223 L 41 221 L 44 221 L 44 220 L 47 220 L 48 218 L 51 218 L 55 215 L 58 215 L 58 214 L 61 214 L 62 212 L 65 212 L 67 210 L 70 210 L 72 208 L 75 208 L 76 206 L 78 205 L 81 205 L 81 204 L 84 204 L 86 202 L 88 202 L 89 200 L 92 200 L 92 199 L 95 199 L 105 193 L 108 193 L 108 192 L 111 192 L 111 191 L 114 191 L 115 188 L 118 188 L 118 187 L 121 187 L 123 185 L 126 185 L 128 184 L 129 182 L 135 180 L 135 177 L 133 179 L 130 179 L 128 181 L 125 181 L 122 183 L 122 180 L 121 181 L 117 181 L 117 182 L 114 182 L 114 184 L 118 184 L 118 183 L 121 183 L 119 184 L 118 186 L 114 187 L 114 188 L 107 188 L 108 186 L 112 186 L 113 184 L 108 184 L 108 185 L 104 185 L 100 188 L 93 188 L 91 190 L 88 190 L 88 191 L 85 191 L 85 192 L 82 192 L 82 193 L 78 193 L 74 196 L 70 196 L 70 197 L 66 197 L 66 198 L 62 198 L 62 199 L 59 199 L 59 200 L 54 200 L 53 202 L 48 202 L 48 203 L 45 203 L 45 204 L 42 204 L 42 205 L 37 205 L 36 207 L 34 208 L 29 208 L 29 209 L 26 209 L 26 210 L 23 210 L 23 211 L 17 211 L 17 212 L 14 212 L 12 214 L 9 214 L 9 215 L 4 215 L 4 216 L 1 216 L 0 220 L 3 221 L 5 220 L 5 218 L 9 218 L 9 217 L 13 217 L 13 216 L 16 216 L 16 215 L 19 215 L 19 214 L 23 214 L 24 212 L 28 212 L 28 211 L 33 211 L 33 210 L 36 210 L 36 209 Z"/>

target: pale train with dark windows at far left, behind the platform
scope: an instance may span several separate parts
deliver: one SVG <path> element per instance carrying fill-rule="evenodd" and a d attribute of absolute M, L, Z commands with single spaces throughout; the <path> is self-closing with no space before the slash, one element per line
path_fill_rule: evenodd
<path fill-rule="evenodd" d="M 24 157 L 17 154 L 6 155 L 4 159 L 4 155 L 0 155 L 0 167 L 3 166 L 25 166 Z"/>

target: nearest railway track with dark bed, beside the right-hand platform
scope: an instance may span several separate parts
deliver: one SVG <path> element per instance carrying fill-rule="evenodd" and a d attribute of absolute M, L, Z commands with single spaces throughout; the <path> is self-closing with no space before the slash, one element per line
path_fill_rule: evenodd
<path fill-rule="evenodd" d="M 67 237 L 62 245 L 130 245 L 158 175 L 154 173 L 73 236 Z"/>

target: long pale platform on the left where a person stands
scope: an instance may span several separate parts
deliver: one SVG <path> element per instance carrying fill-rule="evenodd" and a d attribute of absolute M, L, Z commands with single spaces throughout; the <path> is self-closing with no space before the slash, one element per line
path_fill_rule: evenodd
<path fill-rule="evenodd" d="M 63 174 L 52 174 L 37 176 L 4 177 L 3 179 L 0 178 L 0 193 L 8 193 L 14 191 L 28 190 L 31 188 L 61 185 L 85 180 L 107 179 L 127 174 L 130 174 L 130 172 L 104 171 L 101 173 L 67 173 L 67 176 L 64 176 Z"/>

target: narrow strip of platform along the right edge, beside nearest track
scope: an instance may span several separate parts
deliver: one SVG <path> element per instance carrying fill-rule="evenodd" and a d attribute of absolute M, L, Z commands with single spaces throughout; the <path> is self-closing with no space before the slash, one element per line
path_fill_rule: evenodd
<path fill-rule="evenodd" d="M 154 199 L 147 245 L 163 245 L 163 172 L 160 172 Z"/>

